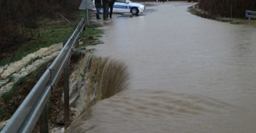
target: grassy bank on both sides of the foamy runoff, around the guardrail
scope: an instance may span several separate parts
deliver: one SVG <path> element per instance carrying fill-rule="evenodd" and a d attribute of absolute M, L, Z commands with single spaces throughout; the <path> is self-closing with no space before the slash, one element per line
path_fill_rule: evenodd
<path fill-rule="evenodd" d="M 29 34 L 33 34 L 33 40 L 20 45 L 19 48 L 14 51 L 6 52 L 5 58 L 0 60 L 0 66 L 21 60 L 22 57 L 25 57 L 29 53 L 36 52 L 40 48 L 45 48 L 51 46 L 52 44 L 68 40 L 80 19 L 86 17 L 85 14 L 85 11 L 77 11 L 75 14 L 75 19 L 68 20 L 69 22 L 65 19 L 41 18 L 40 28 L 30 29 Z M 98 40 L 98 37 L 100 37 L 100 35 L 103 33 L 103 30 L 96 29 L 100 26 L 101 25 L 95 24 L 93 22 L 90 22 L 89 25 L 86 24 L 86 30 L 84 30 L 81 37 L 83 41 L 80 42 L 80 45 L 77 46 L 77 49 L 84 50 L 86 49 L 85 46 L 87 45 L 101 44 L 102 42 Z M 52 61 L 53 60 L 45 62 L 39 68 L 37 68 L 36 71 L 29 73 L 29 75 L 25 77 L 21 77 L 16 83 L 14 83 L 9 92 L 3 93 L 3 95 L 0 97 L 0 121 L 10 119 L 11 115 L 13 115 L 15 110 L 19 107 L 19 105 L 34 87 L 34 84 L 36 84 L 38 79 L 37 72 L 44 72 L 52 63 Z M 72 71 L 72 66 L 76 64 L 76 61 L 70 62 L 70 68 Z M 7 78 L 9 79 L 8 82 L 13 81 L 12 76 Z M 47 104 L 48 120 L 50 124 L 58 124 L 58 122 L 56 122 L 56 118 L 58 117 L 58 114 L 60 114 L 60 112 L 63 110 L 61 109 L 63 108 L 63 103 L 61 101 L 61 85 L 63 83 L 61 83 L 61 79 L 62 78 L 60 78 L 59 86 L 53 90 L 53 93 Z"/>

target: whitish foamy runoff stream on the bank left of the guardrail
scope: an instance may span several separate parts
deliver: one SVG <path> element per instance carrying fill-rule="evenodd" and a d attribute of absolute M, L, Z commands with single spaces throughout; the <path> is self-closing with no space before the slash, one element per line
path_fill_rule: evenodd
<path fill-rule="evenodd" d="M 37 52 L 28 54 L 20 61 L 1 67 L 1 78 L 0 78 L 0 95 L 4 92 L 8 92 L 13 84 L 18 81 L 21 77 L 28 75 L 29 73 L 35 71 L 45 62 L 55 58 L 59 54 L 59 50 L 62 48 L 62 43 L 54 44 L 48 48 L 41 48 Z M 31 62 L 32 60 L 35 60 Z M 30 63 L 31 62 L 31 63 Z M 6 77 L 12 76 L 13 81 L 7 83 L 8 79 Z"/>

